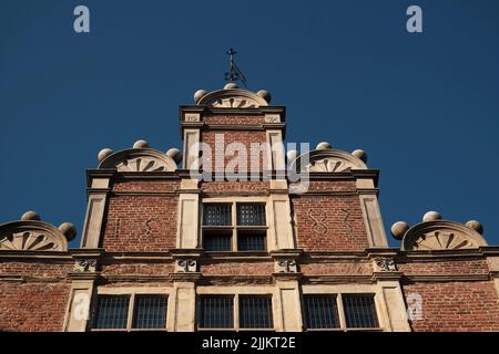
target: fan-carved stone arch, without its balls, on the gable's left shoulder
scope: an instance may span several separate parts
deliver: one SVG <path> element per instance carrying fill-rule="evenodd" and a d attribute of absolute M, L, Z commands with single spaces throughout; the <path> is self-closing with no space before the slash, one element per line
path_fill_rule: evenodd
<path fill-rule="evenodd" d="M 176 163 L 152 148 L 131 148 L 109 155 L 99 168 L 116 168 L 121 173 L 174 171 Z"/>

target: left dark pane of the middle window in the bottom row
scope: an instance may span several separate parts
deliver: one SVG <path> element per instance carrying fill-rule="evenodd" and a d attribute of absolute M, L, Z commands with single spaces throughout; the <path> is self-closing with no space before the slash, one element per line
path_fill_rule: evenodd
<path fill-rule="evenodd" d="M 203 329 L 234 327 L 233 296 L 201 296 L 201 323 Z"/>

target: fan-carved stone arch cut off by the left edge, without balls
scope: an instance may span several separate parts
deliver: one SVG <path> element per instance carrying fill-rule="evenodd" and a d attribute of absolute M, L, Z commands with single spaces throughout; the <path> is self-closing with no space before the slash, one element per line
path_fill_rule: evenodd
<path fill-rule="evenodd" d="M 67 250 L 67 237 L 47 222 L 30 220 L 0 225 L 0 251 Z"/>

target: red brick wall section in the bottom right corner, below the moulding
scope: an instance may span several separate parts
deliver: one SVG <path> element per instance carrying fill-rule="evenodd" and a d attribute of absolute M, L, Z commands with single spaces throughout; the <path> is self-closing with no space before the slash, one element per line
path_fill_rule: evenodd
<path fill-rule="evenodd" d="M 416 332 L 499 331 L 499 299 L 490 281 L 420 282 L 403 290 L 406 298 L 421 295 L 421 320 L 413 321 Z"/>

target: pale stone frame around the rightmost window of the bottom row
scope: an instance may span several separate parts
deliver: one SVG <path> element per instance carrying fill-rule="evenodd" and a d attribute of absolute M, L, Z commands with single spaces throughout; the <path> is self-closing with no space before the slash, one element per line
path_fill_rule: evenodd
<path fill-rule="evenodd" d="M 343 295 L 373 295 L 376 316 L 378 320 L 378 327 L 369 329 L 358 329 L 358 327 L 347 327 L 346 326 L 346 314 L 343 302 Z M 336 308 L 339 317 L 339 327 L 337 329 L 307 329 L 305 323 L 305 301 L 303 300 L 306 295 L 334 295 L 336 296 Z M 349 285 L 302 285 L 302 317 L 303 317 L 303 329 L 305 332 L 320 332 L 320 331 L 333 331 L 333 332 L 384 332 L 386 329 L 386 315 L 385 310 L 386 304 L 383 296 L 379 293 L 378 287 L 369 284 L 349 284 Z"/>

